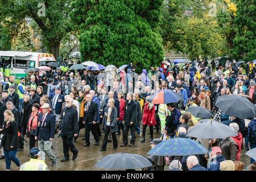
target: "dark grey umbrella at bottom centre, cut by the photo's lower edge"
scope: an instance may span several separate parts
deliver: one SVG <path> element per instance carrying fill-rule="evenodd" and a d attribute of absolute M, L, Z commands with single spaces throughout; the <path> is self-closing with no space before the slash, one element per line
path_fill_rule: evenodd
<path fill-rule="evenodd" d="M 139 169 L 152 166 L 148 159 L 137 154 L 111 154 L 100 159 L 94 167 L 104 169 Z"/>

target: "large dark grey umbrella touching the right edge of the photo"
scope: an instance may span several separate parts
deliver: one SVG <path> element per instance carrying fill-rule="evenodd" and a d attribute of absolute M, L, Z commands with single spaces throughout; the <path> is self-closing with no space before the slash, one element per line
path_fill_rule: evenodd
<path fill-rule="evenodd" d="M 256 107 L 253 103 L 245 97 L 234 94 L 218 97 L 215 106 L 223 113 L 241 119 L 256 115 Z"/>

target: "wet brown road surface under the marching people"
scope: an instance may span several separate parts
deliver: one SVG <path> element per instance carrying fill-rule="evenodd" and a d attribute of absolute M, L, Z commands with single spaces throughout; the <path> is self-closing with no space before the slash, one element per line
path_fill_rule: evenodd
<path fill-rule="evenodd" d="M 147 132 L 149 131 L 149 128 L 147 128 Z M 51 160 L 46 156 L 46 164 L 50 171 L 101 171 L 105 170 L 102 168 L 95 168 L 94 165 L 104 156 L 110 155 L 110 154 L 116 154 L 120 152 L 129 153 L 129 154 L 139 154 L 144 156 L 147 154 L 149 150 L 151 150 L 151 143 L 148 141 L 150 138 L 150 135 L 146 133 L 146 139 L 145 143 L 140 142 L 141 137 L 136 132 L 136 142 L 134 147 L 120 147 L 120 144 L 123 143 L 123 135 L 117 135 L 118 140 L 118 147 L 117 150 L 113 150 L 113 144 L 112 142 L 108 142 L 107 144 L 107 150 L 101 152 L 101 144 L 104 137 L 104 133 L 102 134 L 102 137 L 100 139 L 100 144 L 98 146 L 95 146 L 95 140 L 92 134 L 90 134 L 90 146 L 84 147 L 83 144 L 85 143 L 82 138 L 84 137 L 84 129 L 80 130 L 79 138 L 75 142 L 75 147 L 79 150 L 78 158 L 75 160 L 72 160 L 72 152 L 70 151 L 70 160 L 67 162 L 61 162 L 60 159 L 62 159 L 63 156 L 63 146 L 62 146 L 62 138 L 57 138 L 57 134 L 55 134 L 55 138 L 52 142 L 52 146 L 54 149 L 52 149 L 52 152 L 56 156 L 56 164 L 55 166 L 51 166 Z M 156 134 L 156 130 L 154 130 L 154 138 L 158 138 L 159 134 Z M 30 160 L 30 158 L 27 156 L 29 155 L 29 138 L 26 138 L 27 142 L 24 143 L 24 149 L 22 151 L 17 152 L 17 158 L 19 159 L 19 162 L 21 164 L 27 162 Z M 128 139 L 128 144 L 131 139 Z M 36 142 L 36 147 L 38 147 L 38 143 Z M 243 144 L 244 145 L 244 144 Z M 249 156 L 245 155 L 247 151 L 244 149 L 241 150 L 240 155 L 240 161 L 244 163 L 243 169 L 249 170 L 250 165 L 250 158 Z M 0 160 L 0 171 L 5 170 L 5 159 Z M 166 168 L 168 169 L 168 168 Z M 11 170 L 18 171 L 18 167 L 11 162 Z"/>

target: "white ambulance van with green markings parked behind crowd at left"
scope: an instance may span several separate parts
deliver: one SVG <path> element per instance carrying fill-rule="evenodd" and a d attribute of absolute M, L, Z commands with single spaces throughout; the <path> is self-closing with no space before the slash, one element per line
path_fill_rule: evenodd
<path fill-rule="evenodd" d="M 14 75 L 18 80 L 27 76 L 24 72 L 27 68 L 38 68 L 47 63 L 56 62 L 54 55 L 50 53 L 23 51 L 0 51 L 0 61 L 2 65 L 10 61 L 10 75 Z"/>

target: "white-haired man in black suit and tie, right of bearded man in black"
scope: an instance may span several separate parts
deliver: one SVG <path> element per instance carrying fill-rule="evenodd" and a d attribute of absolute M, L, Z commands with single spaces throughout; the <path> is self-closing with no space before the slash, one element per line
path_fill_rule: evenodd
<path fill-rule="evenodd" d="M 97 135 L 97 118 L 98 118 L 98 106 L 96 102 L 92 101 L 92 95 L 87 94 L 87 101 L 84 103 L 84 116 L 83 116 L 83 124 L 86 129 L 86 143 L 84 143 L 84 147 L 90 146 L 90 131 L 92 131 L 92 135 L 94 135 L 94 139 L 96 140 L 95 145 L 99 144 L 99 136 Z"/>

